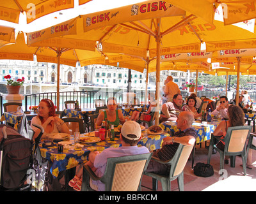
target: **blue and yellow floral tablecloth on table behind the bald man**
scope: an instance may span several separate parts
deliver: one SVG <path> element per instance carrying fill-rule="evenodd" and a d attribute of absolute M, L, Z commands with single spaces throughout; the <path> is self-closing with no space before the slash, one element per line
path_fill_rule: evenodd
<path fill-rule="evenodd" d="M 212 122 L 207 122 L 206 126 L 202 126 L 201 122 L 194 122 L 192 124 L 193 128 L 196 129 L 197 138 L 196 143 L 205 142 L 207 140 L 211 139 L 211 133 L 214 132 L 214 129 L 220 124 L 221 120 L 216 120 Z M 177 122 L 174 121 L 166 121 L 159 124 L 161 128 L 164 129 L 164 131 L 175 133 L 179 131 L 177 128 Z"/>

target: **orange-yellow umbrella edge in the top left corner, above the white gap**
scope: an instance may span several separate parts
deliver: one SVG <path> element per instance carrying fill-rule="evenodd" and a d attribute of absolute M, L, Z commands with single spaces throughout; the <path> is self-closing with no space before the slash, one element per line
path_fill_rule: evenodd
<path fill-rule="evenodd" d="M 79 5 L 91 0 L 79 0 Z M 74 8 L 74 0 L 56 1 L 56 0 L 8 0 L 1 1 L 0 19 L 9 22 L 19 23 L 20 13 L 25 12 L 28 24 L 37 18 L 43 17 L 55 11 Z"/>

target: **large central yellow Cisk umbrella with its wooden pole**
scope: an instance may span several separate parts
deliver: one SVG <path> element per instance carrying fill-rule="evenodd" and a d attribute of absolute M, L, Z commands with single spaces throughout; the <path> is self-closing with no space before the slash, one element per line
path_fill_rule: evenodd
<path fill-rule="evenodd" d="M 66 22 L 63 24 L 66 25 Z M 33 39 L 29 39 L 29 36 L 35 35 L 36 32 L 29 33 L 28 43 L 35 45 L 33 43 L 47 38 L 94 40 L 98 42 L 98 50 L 104 53 L 136 55 L 144 59 L 148 56 L 156 57 L 157 86 L 161 55 L 200 52 L 203 41 L 207 52 L 232 47 L 253 47 L 252 40 L 256 38 L 254 33 L 234 25 L 225 26 L 223 22 L 216 20 L 209 24 L 164 1 L 145 1 L 81 15 L 76 18 L 76 26 L 76 34 L 70 34 L 73 27 L 58 30 L 60 32 L 57 33 L 52 32 L 56 27 L 43 29 L 38 31 L 40 36 Z M 233 42 L 237 40 L 239 43 L 234 46 Z M 156 88 L 159 91 L 158 87 Z"/>

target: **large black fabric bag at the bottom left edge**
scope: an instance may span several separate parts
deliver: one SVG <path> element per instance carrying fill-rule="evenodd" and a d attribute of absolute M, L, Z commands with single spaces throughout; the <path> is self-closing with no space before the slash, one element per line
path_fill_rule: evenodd
<path fill-rule="evenodd" d="M 3 126 L 0 126 L 0 141 L 3 140 Z M 1 186 L 12 189 L 19 187 L 26 179 L 27 171 L 33 161 L 32 142 L 10 126 L 7 126 L 6 132 L 7 139 L 3 144 Z"/>

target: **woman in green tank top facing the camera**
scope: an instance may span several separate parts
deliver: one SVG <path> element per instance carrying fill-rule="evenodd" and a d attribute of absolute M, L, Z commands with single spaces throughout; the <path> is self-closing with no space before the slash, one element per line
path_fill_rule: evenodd
<path fill-rule="evenodd" d="M 120 122 L 124 124 L 125 119 L 122 110 L 116 110 L 116 98 L 108 98 L 107 107 L 108 110 L 105 110 L 99 114 L 96 121 L 97 126 L 101 126 L 102 121 L 105 119 L 109 120 L 110 124 L 113 124 L 116 127 L 120 124 Z"/>

